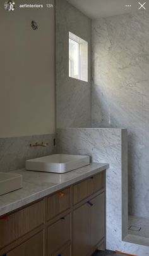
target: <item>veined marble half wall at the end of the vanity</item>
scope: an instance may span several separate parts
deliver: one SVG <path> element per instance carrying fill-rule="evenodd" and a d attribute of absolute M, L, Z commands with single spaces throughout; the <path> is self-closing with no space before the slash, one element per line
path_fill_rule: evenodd
<path fill-rule="evenodd" d="M 121 250 L 128 232 L 127 130 L 57 129 L 57 152 L 87 154 L 92 162 L 109 163 L 107 170 L 107 248 Z"/>

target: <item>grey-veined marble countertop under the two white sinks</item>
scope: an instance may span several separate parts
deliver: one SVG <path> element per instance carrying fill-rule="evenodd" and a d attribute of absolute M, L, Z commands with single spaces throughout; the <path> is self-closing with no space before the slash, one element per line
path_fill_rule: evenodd
<path fill-rule="evenodd" d="M 90 163 L 90 165 L 62 174 L 32 172 L 25 169 L 13 171 L 13 173 L 20 173 L 23 176 L 23 188 L 0 196 L 0 216 L 107 168 L 109 168 L 107 163 Z"/>

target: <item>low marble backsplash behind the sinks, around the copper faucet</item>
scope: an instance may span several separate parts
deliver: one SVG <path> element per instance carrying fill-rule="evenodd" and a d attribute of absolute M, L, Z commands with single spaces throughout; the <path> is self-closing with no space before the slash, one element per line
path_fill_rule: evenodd
<path fill-rule="evenodd" d="M 25 160 L 56 153 L 56 134 L 0 138 L 0 172 L 10 172 L 25 167 Z M 47 147 L 30 147 L 45 142 Z"/>

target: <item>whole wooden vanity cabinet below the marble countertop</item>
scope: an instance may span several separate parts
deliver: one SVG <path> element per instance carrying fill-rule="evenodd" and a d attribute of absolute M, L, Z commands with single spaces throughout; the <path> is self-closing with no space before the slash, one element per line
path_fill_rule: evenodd
<path fill-rule="evenodd" d="M 0 217 L 0 256 L 90 256 L 103 244 L 105 171 Z"/>

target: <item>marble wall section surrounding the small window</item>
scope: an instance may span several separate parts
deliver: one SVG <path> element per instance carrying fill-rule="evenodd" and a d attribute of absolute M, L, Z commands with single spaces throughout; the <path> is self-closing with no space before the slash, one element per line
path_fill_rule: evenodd
<path fill-rule="evenodd" d="M 91 126 L 91 20 L 56 0 L 57 128 Z M 69 77 L 69 31 L 88 42 L 88 83 Z"/>

